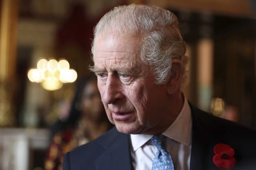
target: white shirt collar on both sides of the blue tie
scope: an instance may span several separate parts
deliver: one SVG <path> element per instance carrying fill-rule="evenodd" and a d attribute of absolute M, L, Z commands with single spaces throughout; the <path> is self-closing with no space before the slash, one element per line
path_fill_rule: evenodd
<path fill-rule="evenodd" d="M 181 144 L 190 145 L 191 127 L 191 109 L 186 97 L 184 97 L 184 104 L 180 114 L 175 119 L 173 124 L 171 124 L 171 126 L 169 126 L 162 134 Z M 152 137 L 153 135 L 131 134 L 131 146 L 133 147 L 133 151 L 136 151 L 138 148 L 142 147 Z"/>

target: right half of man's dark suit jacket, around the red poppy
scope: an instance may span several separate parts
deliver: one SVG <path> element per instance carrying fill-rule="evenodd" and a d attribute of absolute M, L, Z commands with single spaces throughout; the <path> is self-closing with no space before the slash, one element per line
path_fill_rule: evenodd
<path fill-rule="evenodd" d="M 191 167 L 216 169 L 212 161 L 215 155 L 213 148 L 217 144 L 227 144 L 235 150 L 234 157 L 237 164 L 234 169 L 255 169 L 256 131 L 254 129 L 215 117 L 192 105 L 190 107 L 193 126 Z"/>

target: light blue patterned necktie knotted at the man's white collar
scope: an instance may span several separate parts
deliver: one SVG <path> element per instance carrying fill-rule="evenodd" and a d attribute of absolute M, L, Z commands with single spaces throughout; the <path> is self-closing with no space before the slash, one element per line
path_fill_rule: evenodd
<path fill-rule="evenodd" d="M 153 159 L 152 170 L 174 170 L 171 155 L 167 153 L 165 147 L 166 137 L 164 135 L 155 135 L 151 142 L 158 149 Z"/>

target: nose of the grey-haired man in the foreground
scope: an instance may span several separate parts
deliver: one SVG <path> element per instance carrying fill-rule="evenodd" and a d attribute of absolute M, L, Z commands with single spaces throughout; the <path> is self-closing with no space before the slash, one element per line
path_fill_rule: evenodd
<path fill-rule="evenodd" d="M 105 84 L 105 91 L 103 93 L 102 100 L 106 104 L 113 104 L 116 100 L 123 98 L 122 93 L 122 83 L 114 75 L 109 75 L 107 77 L 107 82 Z"/>

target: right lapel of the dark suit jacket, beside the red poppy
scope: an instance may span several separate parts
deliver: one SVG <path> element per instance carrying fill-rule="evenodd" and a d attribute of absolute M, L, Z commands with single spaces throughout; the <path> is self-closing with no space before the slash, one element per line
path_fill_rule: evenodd
<path fill-rule="evenodd" d="M 191 106 L 193 128 L 191 147 L 191 170 L 217 169 L 213 164 L 213 147 L 221 141 L 220 133 L 216 134 L 209 121 L 208 113 L 202 113 Z"/>

